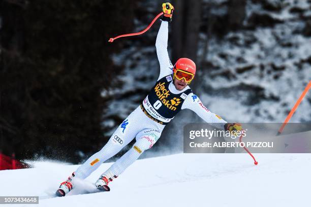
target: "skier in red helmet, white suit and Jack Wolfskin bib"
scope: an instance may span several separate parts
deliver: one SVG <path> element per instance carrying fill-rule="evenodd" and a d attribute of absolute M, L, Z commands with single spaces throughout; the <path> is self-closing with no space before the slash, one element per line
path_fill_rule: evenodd
<path fill-rule="evenodd" d="M 105 171 L 95 183 L 102 190 L 114 178 L 122 174 L 147 149 L 150 149 L 161 136 L 161 132 L 174 116 L 183 109 L 190 109 L 212 126 L 224 130 L 241 130 L 236 123 L 227 123 L 220 116 L 211 113 L 195 95 L 189 84 L 196 74 L 195 63 L 188 58 L 180 58 L 172 65 L 168 51 L 168 24 L 172 20 L 174 7 L 162 4 L 163 15 L 155 47 L 160 62 L 160 76 L 141 105 L 132 112 L 116 129 L 108 143 L 86 162 L 80 165 L 67 181 L 60 184 L 56 194 L 65 196 L 74 186 L 76 178 L 85 179 L 101 163 L 117 154 L 135 137 L 136 143 Z"/>

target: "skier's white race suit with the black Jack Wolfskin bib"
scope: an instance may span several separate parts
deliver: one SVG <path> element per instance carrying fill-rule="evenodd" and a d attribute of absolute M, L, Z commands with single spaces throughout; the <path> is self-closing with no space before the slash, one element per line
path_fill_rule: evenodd
<path fill-rule="evenodd" d="M 224 129 L 224 124 L 227 122 L 211 113 L 199 97 L 193 94 L 189 86 L 182 91 L 175 88 L 172 81 L 173 65 L 169 59 L 167 42 L 168 22 L 162 21 L 155 42 L 160 62 L 160 76 L 157 83 L 142 104 L 119 125 L 108 143 L 77 168 L 75 177 L 85 179 L 101 163 L 117 154 L 136 137 L 134 146 L 109 168 L 112 175 L 119 176 L 145 150 L 158 141 L 165 125 L 183 109 L 190 109 L 212 126 Z"/>

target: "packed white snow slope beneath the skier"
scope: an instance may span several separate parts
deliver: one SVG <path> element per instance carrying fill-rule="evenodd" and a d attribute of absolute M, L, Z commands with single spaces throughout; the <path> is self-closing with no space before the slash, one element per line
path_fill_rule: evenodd
<path fill-rule="evenodd" d="M 81 194 L 94 190 L 91 183 L 111 165 L 104 163 L 65 197 L 52 195 L 78 165 L 35 162 L 35 168 L 0 171 L 0 195 L 40 196 L 39 206 L 53 207 L 307 206 L 310 154 L 255 156 L 258 166 L 248 154 L 141 159 L 109 184 L 110 192 Z"/>

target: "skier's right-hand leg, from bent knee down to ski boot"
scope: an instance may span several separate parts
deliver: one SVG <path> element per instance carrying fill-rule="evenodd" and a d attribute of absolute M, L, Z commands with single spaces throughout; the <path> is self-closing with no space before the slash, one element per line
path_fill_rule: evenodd
<path fill-rule="evenodd" d="M 161 132 L 155 129 L 144 129 L 136 135 L 136 143 L 124 155 L 122 155 L 111 167 L 105 171 L 96 186 L 107 185 L 113 178 L 122 174 L 125 169 L 133 164 L 139 156 L 147 149 L 150 149 L 158 141 Z"/>

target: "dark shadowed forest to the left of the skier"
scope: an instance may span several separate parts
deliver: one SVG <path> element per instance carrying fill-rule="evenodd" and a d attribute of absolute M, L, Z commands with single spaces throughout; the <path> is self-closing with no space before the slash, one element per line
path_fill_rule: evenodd
<path fill-rule="evenodd" d="M 77 162 L 107 139 L 105 100 L 122 70 L 111 34 L 132 30 L 131 1 L 1 1 L 0 137 L 4 154 Z M 118 25 L 118 26 L 113 26 Z"/>

